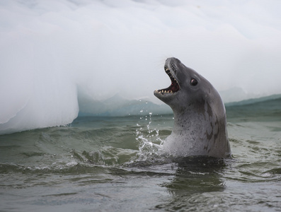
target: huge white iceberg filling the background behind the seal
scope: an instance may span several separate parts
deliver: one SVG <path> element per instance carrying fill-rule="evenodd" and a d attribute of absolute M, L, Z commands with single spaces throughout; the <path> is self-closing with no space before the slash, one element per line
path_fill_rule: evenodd
<path fill-rule="evenodd" d="M 179 58 L 217 90 L 230 90 L 223 92 L 227 102 L 281 93 L 280 6 L 0 1 L 0 134 L 69 124 L 88 111 L 125 115 L 118 107 L 98 110 L 117 94 L 160 105 L 153 91 L 169 83 L 167 57 Z"/>

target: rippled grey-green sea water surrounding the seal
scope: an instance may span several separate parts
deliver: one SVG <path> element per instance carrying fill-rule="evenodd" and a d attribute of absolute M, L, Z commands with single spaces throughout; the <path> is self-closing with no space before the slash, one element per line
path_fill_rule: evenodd
<path fill-rule="evenodd" d="M 161 151 L 173 114 L 0 136 L 0 211 L 281 211 L 281 96 L 226 104 L 232 158 Z"/>

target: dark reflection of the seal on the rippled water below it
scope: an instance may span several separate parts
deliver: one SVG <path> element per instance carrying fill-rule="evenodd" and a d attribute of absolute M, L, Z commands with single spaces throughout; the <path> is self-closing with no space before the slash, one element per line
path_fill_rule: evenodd
<path fill-rule="evenodd" d="M 161 184 L 168 189 L 171 199 L 154 209 L 197 211 L 200 204 L 206 205 L 202 196 L 223 192 L 226 187 L 222 175 L 228 166 L 227 160 L 231 159 L 188 157 L 174 160 L 178 167 L 173 179 Z"/>

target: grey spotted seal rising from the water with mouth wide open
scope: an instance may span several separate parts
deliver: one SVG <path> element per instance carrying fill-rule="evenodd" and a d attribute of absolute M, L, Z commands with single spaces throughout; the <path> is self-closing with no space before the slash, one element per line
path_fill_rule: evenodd
<path fill-rule="evenodd" d="M 171 86 L 154 91 L 174 114 L 173 131 L 164 142 L 164 149 L 180 157 L 229 157 L 226 112 L 217 90 L 176 58 L 166 59 L 164 69 Z"/>

